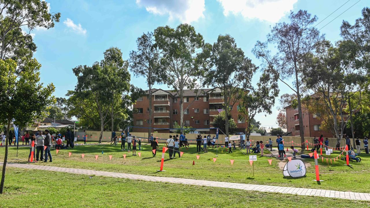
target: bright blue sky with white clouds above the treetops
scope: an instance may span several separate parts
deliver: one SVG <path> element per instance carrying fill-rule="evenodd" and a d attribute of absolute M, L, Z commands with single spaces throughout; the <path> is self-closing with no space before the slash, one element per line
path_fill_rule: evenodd
<path fill-rule="evenodd" d="M 123 58 L 136 48 L 136 39 L 142 33 L 158 26 L 176 27 L 190 23 L 208 43 L 214 43 L 219 34 L 230 34 L 245 55 L 257 66 L 260 62 L 251 50 L 257 40 L 265 41 L 270 26 L 286 21 L 289 11 L 307 10 L 318 17 L 318 22 L 344 4 L 347 0 L 47 0 L 50 12 L 60 12 L 61 19 L 49 30 L 37 28 L 32 31 L 37 51 L 34 57 L 42 64 L 41 82 L 53 82 L 54 95 L 65 97 L 73 90 L 76 77 L 72 68 L 91 66 L 103 58 L 109 47 L 118 47 Z M 350 0 L 317 28 L 329 23 L 358 0 Z M 320 30 L 327 40 L 339 40 L 339 27 L 343 20 L 353 23 L 361 15 L 361 9 L 369 6 L 361 0 L 337 19 Z M 273 50 L 273 48 L 271 48 Z M 254 83 L 259 74 L 253 76 Z M 131 83 L 146 89 L 146 84 L 131 76 Z M 290 83 L 290 82 L 289 82 Z M 166 85 L 157 85 L 168 89 Z M 280 94 L 292 93 L 280 84 Z M 277 99 L 276 99 L 277 101 Z M 273 114 L 256 115 L 256 120 L 266 127 L 276 127 L 277 102 Z"/>

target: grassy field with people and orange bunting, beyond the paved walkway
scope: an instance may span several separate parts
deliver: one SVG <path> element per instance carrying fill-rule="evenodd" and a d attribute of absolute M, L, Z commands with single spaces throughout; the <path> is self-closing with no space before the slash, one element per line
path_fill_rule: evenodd
<path fill-rule="evenodd" d="M 213 162 L 212 158 L 216 155 L 215 149 L 210 149 L 208 153 L 201 153 L 199 160 L 196 159 L 195 146 L 191 146 L 188 150 L 183 149 L 184 155 L 181 158 L 169 160 L 168 153 L 165 156 L 164 170 L 166 172 L 157 172 L 159 170 L 161 151 L 157 153 L 157 157 L 152 157 L 151 147 L 143 145 L 144 150 L 141 157 L 132 156 L 130 153 L 121 151 L 121 148 L 111 145 L 84 145 L 77 146 L 74 149 L 60 151 L 57 155 L 55 150 L 51 152 L 53 162 L 38 162 L 35 165 L 53 165 L 58 167 L 74 167 L 91 170 L 103 170 L 112 172 L 124 172 L 142 175 L 155 175 L 166 177 L 192 178 L 199 180 L 211 181 L 227 181 L 246 184 L 263 184 L 263 185 L 278 185 L 287 187 L 302 187 L 302 188 L 318 188 L 331 189 L 337 191 L 354 191 L 354 192 L 370 192 L 370 162 L 369 155 L 361 154 L 362 161 L 351 162 L 352 166 L 343 165 L 345 162 L 338 160 L 333 161 L 329 166 L 319 160 L 320 179 L 324 180 L 321 184 L 312 181 L 315 179 L 314 161 L 306 159 L 307 174 L 302 178 L 283 177 L 282 167 L 287 160 L 273 160 L 272 165 L 267 161 L 269 157 L 258 157 L 253 167 L 250 166 L 248 158 L 240 150 L 235 150 L 233 153 L 226 153 L 225 149 L 218 150 L 217 161 Z M 16 158 L 16 149 L 10 148 L 9 162 L 26 162 L 28 157 L 28 148 L 19 150 L 19 157 L 22 160 L 14 160 Z M 68 157 L 68 151 L 73 154 Z M 104 151 L 104 154 L 101 154 Z M 220 152 L 221 151 L 221 152 Z M 84 159 L 81 158 L 81 153 L 85 154 Z M 191 154 L 188 154 L 191 153 Z M 336 157 L 339 151 L 334 151 L 334 154 L 329 157 Z M 123 154 L 127 154 L 124 160 Z M 0 160 L 3 160 L 4 148 L 0 148 Z M 95 160 L 94 155 L 99 155 Z M 112 160 L 109 160 L 108 155 L 112 155 Z M 269 155 L 265 151 L 265 155 Z M 325 155 L 324 155 L 325 156 Z M 178 157 L 178 156 L 176 156 Z M 230 159 L 235 160 L 231 165 Z M 192 165 L 193 160 L 195 165 Z"/>

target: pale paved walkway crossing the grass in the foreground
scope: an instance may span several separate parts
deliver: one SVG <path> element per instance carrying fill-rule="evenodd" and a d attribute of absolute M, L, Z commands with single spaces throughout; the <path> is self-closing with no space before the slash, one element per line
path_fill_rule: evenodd
<path fill-rule="evenodd" d="M 2 165 L 2 163 L 0 163 L 0 165 Z M 9 163 L 7 167 L 67 172 L 67 173 L 84 174 L 84 175 L 100 175 L 100 176 L 114 177 L 114 178 L 127 178 L 131 180 L 171 182 L 175 184 L 202 185 L 202 186 L 209 186 L 209 187 L 243 189 L 243 190 L 249 190 L 249 191 L 279 192 L 283 194 L 297 194 L 297 195 L 305 195 L 305 196 L 320 196 L 320 197 L 370 201 L 369 193 L 359 193 L 359 192 L 333 191 L 333 190 L 311 189 L 311 188 L 279 187 L 279 186 L 270 186 L 270 185 L 237 184 L 237 183 L 219 182 L 219 181 L 205 181 L 205 180 L 194 180 L 194 179 L 186 179 L 186 178 L 158 177 L 158 176 L 127 174 L 127 173 L 119 173 L 119 172 L 95 171 L 95 170 L 85 170 L 85 169 L 77 169 L 77 168 L 62 168 L 62 167 L 54 167 L 54 166 L 19 164 L 19 163 Z"/>

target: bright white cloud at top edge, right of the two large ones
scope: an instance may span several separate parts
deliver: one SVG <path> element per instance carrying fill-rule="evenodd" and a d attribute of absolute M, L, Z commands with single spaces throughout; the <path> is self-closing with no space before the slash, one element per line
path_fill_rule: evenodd
<path fill-rule="evenodd" d="M 246 19 L 277 22 L 293 9 L 297 0 L 218 0 L 223 14 L 241 14 Z"/>

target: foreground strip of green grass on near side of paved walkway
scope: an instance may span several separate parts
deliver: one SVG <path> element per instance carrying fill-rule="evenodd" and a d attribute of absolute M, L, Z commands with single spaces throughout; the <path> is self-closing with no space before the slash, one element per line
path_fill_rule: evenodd
<path fill-rule="evenodd" d="M 8 168 L 1 207 L 369 207 L 367 201 Z"/>

